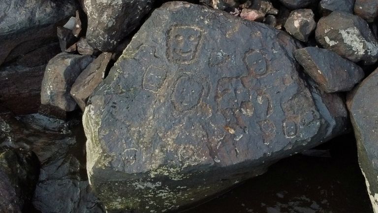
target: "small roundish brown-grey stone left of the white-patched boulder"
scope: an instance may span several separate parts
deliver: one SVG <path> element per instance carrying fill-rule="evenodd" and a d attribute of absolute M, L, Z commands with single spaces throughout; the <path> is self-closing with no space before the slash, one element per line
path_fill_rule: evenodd
<path fill-rule="evenodd" d="M 293 10 L 285 23 L 285 30 L 301 41 L 307 41 L 316 28 L 314 13 L 311 9 Z"/>

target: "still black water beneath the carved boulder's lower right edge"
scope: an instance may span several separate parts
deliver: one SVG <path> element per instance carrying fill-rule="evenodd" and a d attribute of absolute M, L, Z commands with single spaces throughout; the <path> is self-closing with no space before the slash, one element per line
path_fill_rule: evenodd
<path fill-rule="evenodd" d="M 297 154 L 259 177 L 185 213 L 373 213 L 354 136 L 338 137 L 314 157 Z"/>

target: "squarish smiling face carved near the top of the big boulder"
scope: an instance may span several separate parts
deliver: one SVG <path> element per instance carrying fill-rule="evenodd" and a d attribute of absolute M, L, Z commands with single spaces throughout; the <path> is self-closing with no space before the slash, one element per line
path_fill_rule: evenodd
<path fill-rule="evenodd" d="M 195 59 L 201 31 L 189 26 L 173 27 L 168 35 L 168 58 L 178 63 L 190 63 Z"/>

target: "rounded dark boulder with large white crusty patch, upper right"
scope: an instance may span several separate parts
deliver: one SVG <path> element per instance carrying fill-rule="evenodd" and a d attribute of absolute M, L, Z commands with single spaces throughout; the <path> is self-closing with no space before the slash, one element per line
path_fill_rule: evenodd
<path fill-rule="evenodd" d="M 323 47 L 352 62 L 363 61 L 367 65 L 377 62 L 378 41 L 361 17 L 334 11 L 319 20 L 315 38 Z"/>

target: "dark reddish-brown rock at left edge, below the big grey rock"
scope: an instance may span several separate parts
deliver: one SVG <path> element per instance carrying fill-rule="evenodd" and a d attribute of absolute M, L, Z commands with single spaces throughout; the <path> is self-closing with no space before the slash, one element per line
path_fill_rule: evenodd
<path fill-rule="evenodd" d="M 37 112 L 43 72 L 59 52 L 59 43 L 44 45 L 0 68 L 0 102 L 15 114 Z"/>

